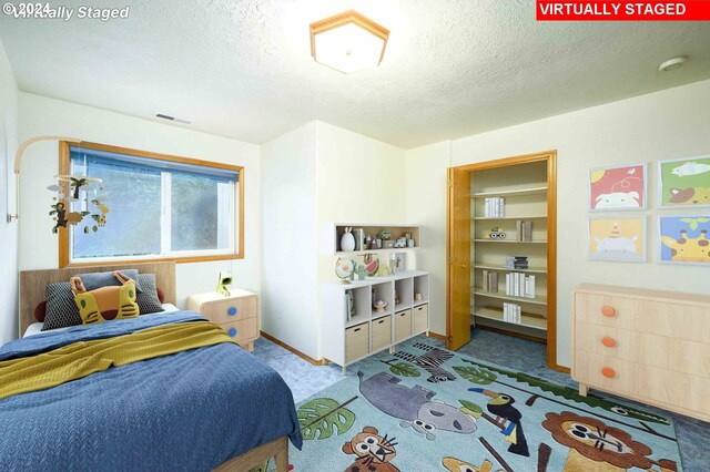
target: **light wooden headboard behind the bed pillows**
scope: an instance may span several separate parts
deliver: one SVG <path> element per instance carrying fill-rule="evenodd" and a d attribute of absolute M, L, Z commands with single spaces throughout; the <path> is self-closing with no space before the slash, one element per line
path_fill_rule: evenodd
<path fill-rule="evenodd" d="M 47 284 L 69 281 L 79 274 L 136 269 L 139 274 L 155 274 L 155 284 L 165 293 L 165 302 L 175 305 L 175 263 L 124 264 L 111 266 L 70 267 L 64 269 L 20 271 L 20 337 L 36 322 L 34 308 L 44 301 Z"/>

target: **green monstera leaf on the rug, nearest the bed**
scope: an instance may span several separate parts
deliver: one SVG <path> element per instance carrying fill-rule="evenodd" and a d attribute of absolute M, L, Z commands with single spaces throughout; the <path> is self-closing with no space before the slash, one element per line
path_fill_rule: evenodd
<path fill-rule="evenodd" d="M 336 431 L 337 435 L 344 434 L 355 423 L 355 413 L 345 408 L 357 397 L 353 397 L 344 403 L 338 403 L 329 398 L 316 398 L 301 406 L 297 411 L 298 424 L 303 439 L 328 439 Z"/>

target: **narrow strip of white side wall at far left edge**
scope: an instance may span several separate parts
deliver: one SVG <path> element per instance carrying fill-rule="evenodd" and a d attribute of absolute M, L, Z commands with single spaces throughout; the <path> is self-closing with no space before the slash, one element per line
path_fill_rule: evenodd
<path fill-rule="evenodd" d="M 12 165 L 17 146 L 18 84 L 0 43 L 0 345 L 18 334 L 18 224 L 6 218 L 14 213 Z"/>

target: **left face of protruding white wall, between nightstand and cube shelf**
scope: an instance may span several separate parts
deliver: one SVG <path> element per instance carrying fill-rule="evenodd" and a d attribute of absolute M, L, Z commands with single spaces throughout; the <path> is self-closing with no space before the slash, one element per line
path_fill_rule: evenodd
<path fill-rule="evenodd" d="M 317 357 L 316 122 L 262 146 L 262 330 Z"/>

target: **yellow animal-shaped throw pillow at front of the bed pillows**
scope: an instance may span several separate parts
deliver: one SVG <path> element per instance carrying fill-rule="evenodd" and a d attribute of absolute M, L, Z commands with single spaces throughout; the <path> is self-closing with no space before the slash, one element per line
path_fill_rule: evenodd
<path fill-rule="evenodd" d="M 81 277 L 69 279 L 83 325 L 139 316 L 135 281 L 119 270 L 113 271 L 113 277 L 121 283 L 120 286 L 104 285 L 94 290 L 87 290 Z"/>

